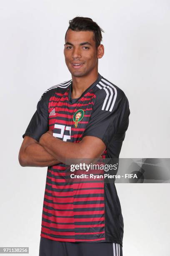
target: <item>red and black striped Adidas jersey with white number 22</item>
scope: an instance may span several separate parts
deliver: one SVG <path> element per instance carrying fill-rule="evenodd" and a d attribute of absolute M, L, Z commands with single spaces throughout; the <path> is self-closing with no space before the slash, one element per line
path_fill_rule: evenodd
<path fill-rule="evenodd" d="M 130 115 L 125 93 L 100 74 L 80 98 L 72 99 L 71 90 L 69 80 L 44 92 L 23 138 L 39 141 L 49 129 L 56 138 L 72 143 L 95 136 L 106 145 L 103 158 L 118 158 Z M 122 245 L 123 218 L 115 184 L 70 183 L 65 177 L 65 164 L 48 167 L 41 236 Z"/>

